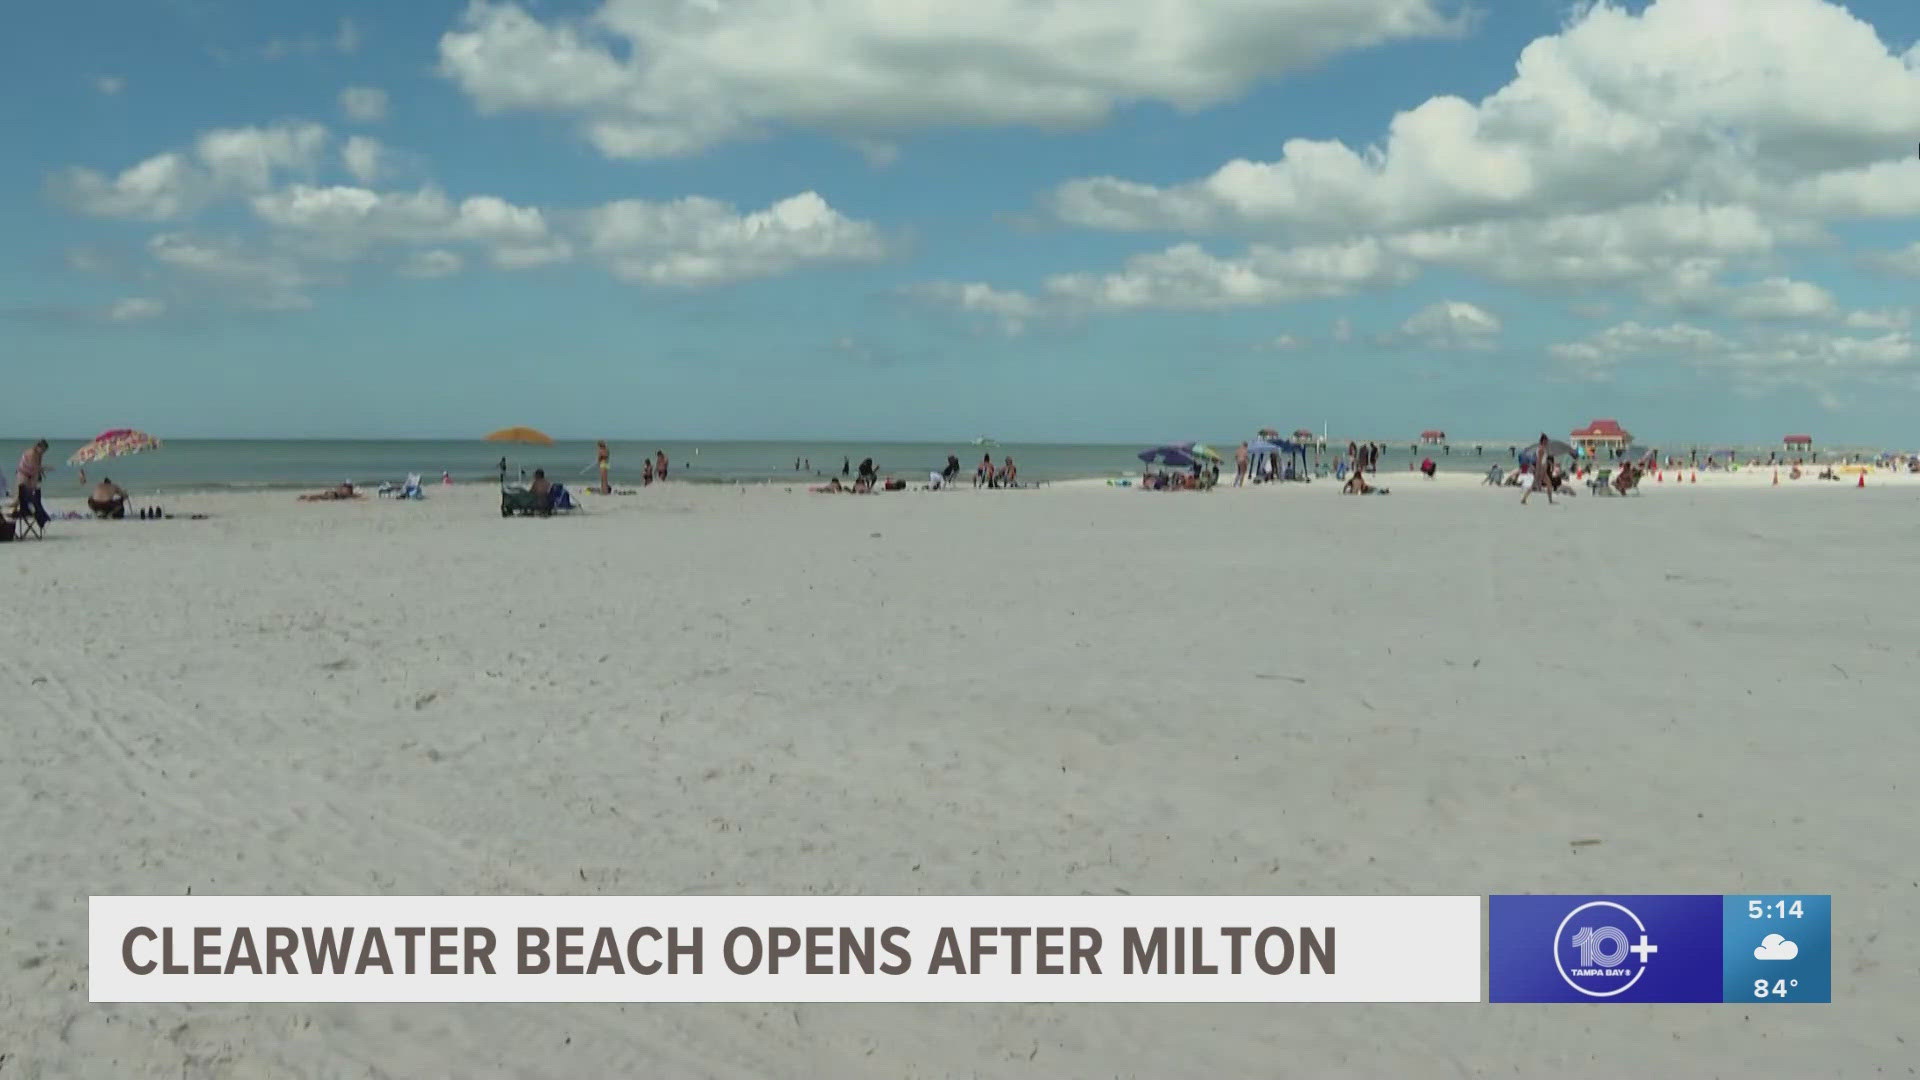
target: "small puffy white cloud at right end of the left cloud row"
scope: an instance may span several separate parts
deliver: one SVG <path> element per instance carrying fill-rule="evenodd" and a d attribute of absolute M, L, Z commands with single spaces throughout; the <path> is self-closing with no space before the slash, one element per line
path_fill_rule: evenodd
<path fill-rule="evenodd" d="M 588 250 L 637 284 L 720 284 L 887 254 L 879 229 L 814 192 L 753 213 L 710 198 L 622 200 L 586 211 L 582 231 Z"/>

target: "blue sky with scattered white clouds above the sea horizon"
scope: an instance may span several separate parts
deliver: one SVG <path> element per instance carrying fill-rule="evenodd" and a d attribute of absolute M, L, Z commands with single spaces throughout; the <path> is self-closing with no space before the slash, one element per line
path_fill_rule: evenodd
<path fill-rule="evenodd" d="M 1920 442 L 1910 0 L 10 25 L 0 432 Z"/>

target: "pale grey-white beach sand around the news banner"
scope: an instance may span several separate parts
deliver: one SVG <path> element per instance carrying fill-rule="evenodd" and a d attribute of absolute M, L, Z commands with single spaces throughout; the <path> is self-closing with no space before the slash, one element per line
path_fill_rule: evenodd
<path fill-rule="evenodd" d="M 1724 480 L 56 523 L 0 546 L 0 1068 L 1905 1072 L 1920 486 Z M 1832 892 L 1836 1005 L 88 1005 L 86 896 L 188 890 Z"/>

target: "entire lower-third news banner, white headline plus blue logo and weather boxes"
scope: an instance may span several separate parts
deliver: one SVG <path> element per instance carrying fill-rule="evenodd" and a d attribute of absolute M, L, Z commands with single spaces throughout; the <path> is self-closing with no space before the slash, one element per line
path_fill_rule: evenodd
<path fill-rule="evenodd" d="M 1832 897 L 96 896 L 92 1001 L 1826 1003 Z M 1482 980 L 1486 997 L 1482 997 Z"/>

